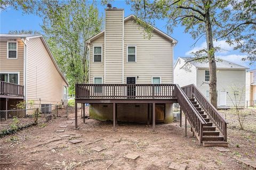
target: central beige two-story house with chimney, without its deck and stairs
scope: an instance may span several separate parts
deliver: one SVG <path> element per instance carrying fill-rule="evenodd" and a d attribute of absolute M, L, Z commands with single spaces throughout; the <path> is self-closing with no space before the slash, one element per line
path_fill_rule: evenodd
<path fill-rule="evenodd" d="M 173 83 L 173 47 L 177 40 L 155 27 L 153 37 L 145 38 L 135 16 L 124 17 L 123 9 L 107 8 L 105 21 L 105 30 L 87 40 L 91 84 Z M 135 88 L 129 92 L 135 94 Z M 172 121 L 171 108 L 172 104 L 158 104 L 157 121 Z M 147 104 L 118 104 L 117 109 L 118 120 L 146 121 Z M 90 116 L 109 120 L 112 109 L 109 104 L 91 104 Z"/>

